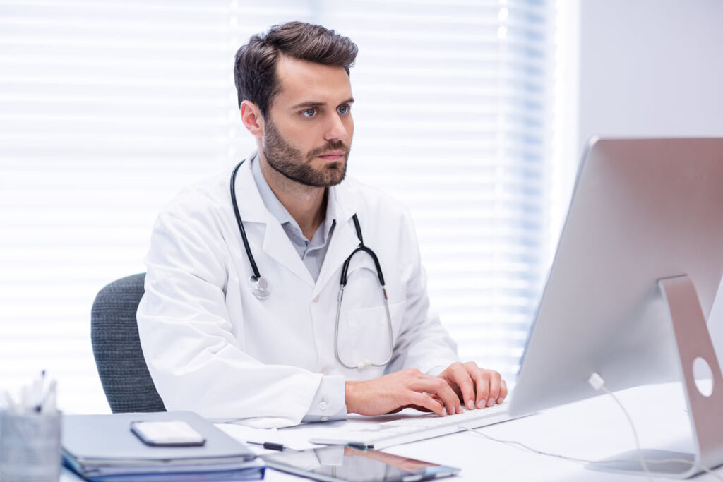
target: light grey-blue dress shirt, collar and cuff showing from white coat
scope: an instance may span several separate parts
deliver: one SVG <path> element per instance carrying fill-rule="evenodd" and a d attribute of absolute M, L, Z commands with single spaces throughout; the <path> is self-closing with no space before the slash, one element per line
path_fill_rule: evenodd
<path fill-rule="evenodd" d="M 329 242 L 336 224 L 332 216 L 332 213 L 336 212 L 335 209 L 333 209 L 333 205 L 331 205 L 333 196 L 326 197 L 328 199 L 328 205 L 326 207 L 325 218 L 309 241 L 309 239 L 304 236 L 304 233 L 301 232 L 299 223 L 296 223 L 296 220 L 291 217 L 286 207 L 283 207 L 281 201 L 273 194 L 264 174 L 261 172 L 258 153 L 251 157 L 251 173 L 266 209 L 281 223 L 283 231 L 286 232 L 289 241 L 291 241 L 296 252 L 299 253 L 299 257 L 301 257 L 304 265 L 306 265 L 307 270 L 309 270 L 309 273 L 311 273 L 315 281 L 318 280 L 321 266 L 324 263 L 326 251 L 329 247 Z M 324 394 L 327 394 L 327 396 Z M 335 394 L 334 398 L 338 398 L 338 400 L 328 400 L 328 394 Z M 307 411 L 307 415 L 304 416 L 301 421 L 319 422 L 345 419 L 346 404 L 344 403 L 344 397 L 345 387 L 343 376 L 325 375 L 321 379 L 321 384 L 319 385 L 312 405 Z M 330 413 L 329 408 L 339 406 L 341 406 L 341 410 L 334 410 L 334 413 Z"/>

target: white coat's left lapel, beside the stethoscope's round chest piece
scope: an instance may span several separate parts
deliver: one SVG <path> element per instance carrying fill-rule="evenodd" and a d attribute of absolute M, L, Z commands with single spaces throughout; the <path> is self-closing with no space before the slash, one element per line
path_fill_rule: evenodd
<path fill-rule="evenodd" d="M 281 224 L 273 215 L 266 209 L 261 194 L 254 182 L 254 177 L 251 173 L 251 158 L 249 157 L 244 165 L 239 168 L 239 174 L 236 176 L 236 197 L 239 204 L 239 213 L 244 223 L 263 223 L 266 225 L 264 231 L 264 239 L 262 241 L 261 249 L 268 254 L 270 257 L 275 259 L 276 262 L 281 264 L 287 270 L 291 271 L 299 277 L 304 283 L 309 286 L 314 285 L 312 275 L 309 273 L 304 262 L 301 261 L 299 253 L 296 252 L 294 246 L 291 245 L 291 240 L 283 231 Z M 251 242 L 252 251 L 254 250 L 254 243 Z M 268 273 L 268 267 L 265 269 L 260 259 L 256 260 L 259 271 L 262 276 Z"/>

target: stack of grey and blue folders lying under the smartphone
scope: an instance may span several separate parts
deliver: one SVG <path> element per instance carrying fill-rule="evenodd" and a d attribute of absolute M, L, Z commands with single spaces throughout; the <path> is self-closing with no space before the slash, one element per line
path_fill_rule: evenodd
<path fill-rule="evenodd" d="M 134 421 L 185 421 L 206 442 L 152 447 L 132 433 Z M 64 416 L 62 447 L 65 465 L 98 482 L 252 480 L 265 470 L 244 444 L 192 412 Z"/>

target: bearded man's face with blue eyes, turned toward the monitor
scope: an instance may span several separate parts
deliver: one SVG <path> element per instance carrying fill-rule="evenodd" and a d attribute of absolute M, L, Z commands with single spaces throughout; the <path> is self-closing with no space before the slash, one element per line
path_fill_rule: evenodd
<path fill-rule="evenodd" d="M 281 91 L 272 100 L 262 138 L 267 162 L 305 186 L 339 184 L 354 135 L 346 71 L 281 56 L 276 74 Z"/>

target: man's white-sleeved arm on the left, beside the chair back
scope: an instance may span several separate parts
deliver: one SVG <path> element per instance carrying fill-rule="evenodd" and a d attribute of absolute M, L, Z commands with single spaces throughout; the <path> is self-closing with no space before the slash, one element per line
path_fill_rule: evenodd
<path fill-rule="evenodd" d="M 244 352 L 243 330 L 234 330 L 226 308 L 229 256 L 223 236 L 194 220 L 159 216 L 137 314 L 148 369 L 168 410 L 295 425 L 320 395 L 323 376 Z M 338 391 L 325 397 L 332 414 L 343 412 L 343 383 Z"/>

